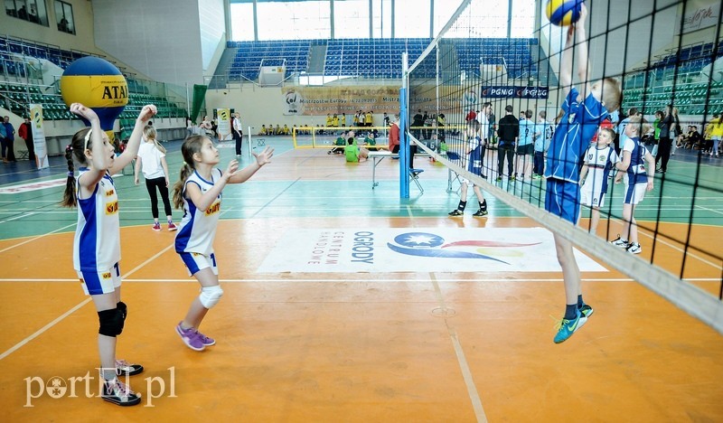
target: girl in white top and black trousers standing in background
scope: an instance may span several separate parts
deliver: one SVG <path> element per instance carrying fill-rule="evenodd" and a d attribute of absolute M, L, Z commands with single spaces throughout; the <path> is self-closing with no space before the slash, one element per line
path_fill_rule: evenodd
<path fill-rule="evenodd" d="M 135 183 L 138 184 L 138 174 L 143 169 L 146 189 L 151 196 L 151 214 L 154 220 L 152 229 L 161 230 L 161 223 L 158 221 L 158 197 L 155 195 L 155 189 L 158 188 L 158 193 L 161 194 L 161 200 L 164 202 L 168 230 L 176 230 L 174 217 L 171 214 L 171 202 L 168 200 L 168 164 L 165 163 L 165 148 L 155 139 L 155 127 L 145 127 L 143 135 L 146 142 L 138 148 Z"/>

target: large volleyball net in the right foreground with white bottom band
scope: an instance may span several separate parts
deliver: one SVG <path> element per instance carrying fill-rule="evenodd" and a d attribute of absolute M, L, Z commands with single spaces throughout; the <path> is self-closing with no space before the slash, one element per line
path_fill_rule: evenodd
<path fill-rule="evenodd" d="M 604 173 L 592 171 L 599 167 L 596 164 L 587 166 L 588 178 L 599 179 L 593 183 L 607 185 L 596 231 L 590 230 L 589 206 L 572 205 L 581 207 L 577 226 L 544 210 L 548 193 L 542 174 L 548 164 L 540 159 L 546 155 L 552 131 L 557 128 L 555 119 L 561 117 L 559 112 L 570 89 L 560 87 L 559 82 L 560 71 L 568 63 L 562 60 L 568 27 L 549 24 L 545 3 L 537 2 L 534 33 L 506 39 L 487 37 L 480 29 L 480 23 L 489 23 L 497 13 L 490 11 L 484 0 L 465 0 L 459 6 L 439 36 L 408 65 L 403 84 L 408 101 L 402 105 L 406 118 L 402 124 L 406 122 L 411 143 L 481 186 L 485 193 L 571 240 L 607 268 L 619 270 L 723 333 L 723 167 L 717 162 L 723 159 L 716 159 L 715 152 L 709 155 L 707 149 L 712 149 L 713 143 L 710 132 L 704 134 L 713 115 L 723 111 L 719 24 L 723 4 L 710 3 L 710 9 L 716 9 L 712 26 L 708 21 L 698 23 L 703 31 L 715 33 L 715 38 L 695 42 L 706 39 L 700 28 L 690 26 L 700 2 L 664 2 L 652 10 L 649 3 L 643 2 L 643 7 L 634 0 L 588 1 L 585 25 L 590 65 L 586 80 L 577 76 L 583 62 L 578 52 L 584 46 L 577 35 L 566 52 L 572 60 L 571 84 L 583 99 L 588 94 L 586 87 L 595 80 L 613 78 L 620 82 L 621 106 L 607 119 L 611 122 L 602 124 L 617 133 L 612 144 L 616 150 L 626 145 L 620 140 L 620 132 L 624 133 L 620 124 L 624 124 L 629 110 L 642 113 L 653 124 L 656 111 L 668 105 L 677 108 L 677 118 L 671 110 L 671 119 L 673 127 L 677 123 L 682 130 L 680 135 L 671 135 L 671 143 L 680 147 L 667 169 L 662 168 L 666 172 L 655 174 L 653 191 L 645 193 L 635 207 L 642 253 L 633 254 L 609 243 L 617 234 L 627 238 L 623 233 L 625 185 L 615 183 L 615 171 L 608 179 Z M 617 9 L 613 14 L 610 8 L 614 3 Z M 512 15 L 512 25 L 514 19 Z M 507 24 L 504 19 L 499 21 L 500 25 Z M 508 107 L 519 121 L 519 136 L 513 146 L 511 140 L 500 139 L 498 132 L 500 120 L 509 114 L 505 111 Z M 425 115 L 432 117 L 431 125 L 420 127 L 420 117 Z M 480 137 L 487 139 L 484 155 L 475 156 L 481 161 L 482 175 L 469 171 L 473 167 L 468 163 L 465 127 L 473 120 L 490 123 L 479 126 L 484 131 Z M 699 136 L 692 130 L 689 133 L 693 126 L 698 127 Z M 525 131 L 538 136 L 527 137 Z M 653 151 L 662 150 L 665 141 L 656 133 L 642 134 L 641 143 L 654 156 L 662 156 L 662 152 Z M 585 140 L 581 151 L 594 146 L 591 141 Z M 532 146 L 520 150 L 528 142 Z M 530 149 L 530 154 L 524 154 Z M 537 163 L 534 150 L 539 153 Z M 586 155 L 577 155 L 580 160 L 570 165 L 579 169 Z"/>

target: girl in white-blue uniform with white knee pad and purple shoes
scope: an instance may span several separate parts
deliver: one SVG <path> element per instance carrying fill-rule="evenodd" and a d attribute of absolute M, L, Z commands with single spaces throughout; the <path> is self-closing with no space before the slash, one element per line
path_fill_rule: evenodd
<path fill-rule="evenodd" d="M 208 136 L 189 136 L 181 146 L 183 167 L 181 179 L 174 185 L 174 205 L 183 207 L 183 220 L 175 236 L 175 251 L 181 256 L 188 273 L 201 284 L 185 318 L 176 326 L 183 343 L 195 351 L 214 345 L 216 341 L 201 334 L 198 327 L 206 313 L 216 305 L 223 290 L 219 286 L 219 270 L 213 254 L 213 240 L 221 215 L 221 190 L 227 183 L 244 183 L 264 164 L 270 163 L 274 149 L 252 153 L 256 161 L 239 170 L 239 161 L 231 160 L 226 172 L 219 164 L 219 150 Z"/>

